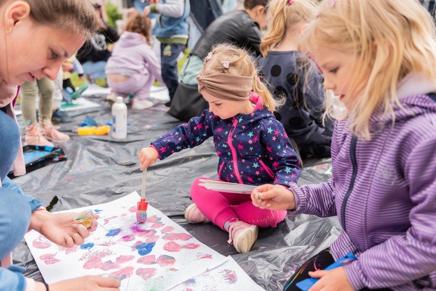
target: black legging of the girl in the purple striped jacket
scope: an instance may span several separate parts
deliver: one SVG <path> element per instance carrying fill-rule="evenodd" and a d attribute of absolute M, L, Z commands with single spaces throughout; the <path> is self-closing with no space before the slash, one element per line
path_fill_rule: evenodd
<path fill-rule="evenodd" d="M 308 261 L 306 261 L 301 267 L 295 271 L 294 275 L 286 282 L 284 291 L 301 291 L 300 288 L 298 288 L 295 284 L 304 280 L 311 278 L 309 276 L 309 272 L 314 272 L 316 270 L 324 270 L 329 265 L 333 264 L 335 262 L 335 259 L 333 259 L 332 253 L 330 252 L 330 248 L 327 248 L 312 258 L 310 258 Z M 383 288 L 383 289 L 368 289 L 364 288 L 360 291 L 369 291 L 369 290 L 377 290 L 377 291 L 391 291 L 390 289 Z"/>

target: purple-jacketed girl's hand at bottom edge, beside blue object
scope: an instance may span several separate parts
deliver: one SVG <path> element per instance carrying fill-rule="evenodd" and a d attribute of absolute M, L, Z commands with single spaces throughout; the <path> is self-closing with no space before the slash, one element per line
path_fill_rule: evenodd
<path fill-rule="evenodd" d="M 308 291 L 354 291 L 345 275 L 345 268 L 309 272 L 312 278 L 320 278 Z"/>

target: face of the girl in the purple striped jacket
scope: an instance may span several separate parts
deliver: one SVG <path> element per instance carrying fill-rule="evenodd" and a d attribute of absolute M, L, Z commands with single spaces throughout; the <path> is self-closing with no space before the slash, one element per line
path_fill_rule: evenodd
<path fill-rule="evenodd" d="M 345 107 L 352 109 L 356 93 L 348 92 L 348 87 L 356 70 L 356 56 L 320 46 L 315 46 L 311 53 L 324 73 L 324 88 L 332 90 Z"/>

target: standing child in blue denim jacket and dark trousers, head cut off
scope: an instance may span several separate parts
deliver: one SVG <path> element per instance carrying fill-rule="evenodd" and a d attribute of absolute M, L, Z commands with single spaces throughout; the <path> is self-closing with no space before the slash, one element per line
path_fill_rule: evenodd
<path fill-rule="evenodd" d="M 160 0 L 144 8 L 144 15 L 157 13 L 156 25 L 152 34 L 161 43 L 162 78 L 168 87 L 169 99 L 176 93 L 179 77 L 177 58 L 188 43 L 188 16 L 190 5 L 188 0 Z"/>

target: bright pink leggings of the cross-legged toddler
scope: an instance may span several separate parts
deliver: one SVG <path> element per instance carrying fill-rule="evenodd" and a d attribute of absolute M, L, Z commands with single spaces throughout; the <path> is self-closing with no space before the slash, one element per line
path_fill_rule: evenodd
<path fill-rule="evenodd" d="M 208 190 L 199 186 L 200 179 L 204 178 L 192 183 L 191 198 L 200 211 L 223 230 L 224 223 L 233 217 L 261 228 L 274 228 L 285 219 L 286 210 L 260 209 L 251 203 L 250 195 Z"/>

